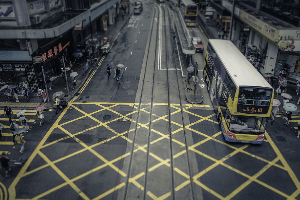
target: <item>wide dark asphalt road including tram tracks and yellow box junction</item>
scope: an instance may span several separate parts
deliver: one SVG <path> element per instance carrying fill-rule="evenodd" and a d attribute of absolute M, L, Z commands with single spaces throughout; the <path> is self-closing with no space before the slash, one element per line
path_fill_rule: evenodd
<path fill-rule="evenodd" d="M 188 104 L 188 65 L 171 37 L 172 12 L 164 4 L 143 7 L 130 17 L 80 95 L 59 115 L 47 112 L 43 128 L 35 125 L 39 131 L 25 135 L 29 160 L 10 178 L 1 177 L 4 196 L 299 199 L 299 118 L 283 127 L 277 115 L 262 145 L 225 142 L 201 80 L 203 54 L 193 56 L 203 103 Z M 189 30 L 206 48 L 201 29 Z M 120 81 L 113 73 L 107 79 L 108 62 L 125 65 Z M 36 123 L 29 114 L 29 123 Z"/>

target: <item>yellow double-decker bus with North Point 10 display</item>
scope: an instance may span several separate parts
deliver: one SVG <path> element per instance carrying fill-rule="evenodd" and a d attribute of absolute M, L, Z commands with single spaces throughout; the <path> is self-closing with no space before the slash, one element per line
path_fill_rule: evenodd
<path fill-rule="evenodd" d="M 203 78 L 225 140 L 261 144 L 274 89 L 230 40 L 208 40 Z"/>

